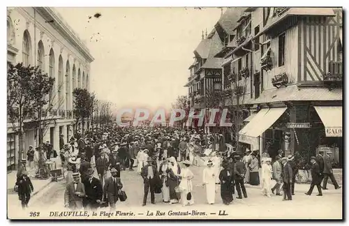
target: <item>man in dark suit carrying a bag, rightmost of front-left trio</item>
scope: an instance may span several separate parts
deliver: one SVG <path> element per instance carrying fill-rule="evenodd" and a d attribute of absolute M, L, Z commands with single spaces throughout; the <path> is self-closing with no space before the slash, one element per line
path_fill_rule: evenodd
<path fill-rule="evenodd" d="M 112 168 L 110 173 L 112 176 L 105 181 L 104 201 L 109 202 L 110 211 L 113 211 L 115 209 L 115 204 L 119 199 L 118 194 L 119 190 L 122 188 L 122 183 L 120 178 L 117 177 L 117 169 Z"/>

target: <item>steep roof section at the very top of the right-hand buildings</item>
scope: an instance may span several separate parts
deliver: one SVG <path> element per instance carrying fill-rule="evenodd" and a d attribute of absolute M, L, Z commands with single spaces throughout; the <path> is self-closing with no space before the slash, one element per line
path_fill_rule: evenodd
<path fill-rule="evenodd" d="M 239 20 L 239 17 L 241 17 L 245 10 L 246 8 L 239 7 L 228 8 L 225 10 L 225 13 L 221 15 L 217 24 L 224 29 L 225 33 L 232 35 L 235 27 L 237 27 L 237 20 Z"/>

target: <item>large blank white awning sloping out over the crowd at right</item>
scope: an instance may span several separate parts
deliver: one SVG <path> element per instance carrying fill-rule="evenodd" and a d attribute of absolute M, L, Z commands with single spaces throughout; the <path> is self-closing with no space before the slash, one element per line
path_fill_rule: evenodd
<path fill-rule="evenodd" d="M 287 107 L 277 107 L 260 110 L 260 112 L 258 112 L 257 115 L 239 131 L 239 135 L 259 137 L 280 118 L 286 109 Z"/>

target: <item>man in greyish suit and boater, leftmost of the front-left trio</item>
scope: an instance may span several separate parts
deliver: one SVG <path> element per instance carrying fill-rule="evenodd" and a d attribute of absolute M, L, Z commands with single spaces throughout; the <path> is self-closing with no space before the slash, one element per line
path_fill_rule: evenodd
<path fill-rule="evenodd" d="M 64 203 L 66 207 L 71 210 L 82 209 L 82 200 L 85 197 L 85 186 L 80 182 L 80 174 L 78 172 L 73 173 L 72 182 L 66 186 L 66 192 L 64 193 Z"/>

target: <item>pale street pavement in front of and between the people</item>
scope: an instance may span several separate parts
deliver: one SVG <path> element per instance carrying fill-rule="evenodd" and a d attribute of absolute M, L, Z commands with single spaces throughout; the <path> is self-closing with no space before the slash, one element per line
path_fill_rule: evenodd
<path fill-rule="evenodd" d="M 196 175 L 193 180 L 193 185 L 201 183 L 202 167 L 192 167 L 193 173 Z M 296 185 L 296 195 L 292 202 L 283 202 L 282 197 L 272 196 L 271 198 L 264 197 L 260 193 L 260 189 L 247 188 L 248 199 L 235 199 L 233 204 L 225 206 L 222 204 L 219 187 L 216 194 L 216 204 L 209 206 L 206 204 L 205 189 L 195 186 L 193 197 L 195 200 L 194 206 L 181 206 L 180 204 L 165 204 L 162 201 L 161 195 L 156 195 L 156 205 L 149 204 L 142 206 L 143 186 L 140 175 L 136 172 L 128 170 L 121 173 L 121 180 L 124 183 L 124 190 L 128 195 L 126 202 L 118 202 L 117 210 L 133 211 L 137 218 L 146 216 L 147 211 L 205 211 L 208 215 L 205 218 L 341 218 L 342 211 L 342 190 L 326 190 L 323 197 L 317 197 L 315 191 L 313 195 L 306 196 L 304 192 L 309 188 L 309 185 Z M 298 190 L 297 190 L 298 188 Z M 36 195 L 29 203 L 30 211 L 42 211 L 43 216 L 48 216 L 48 211 L 64 211 L 64 181 L 51 183 L 41 193 Z M 150 199 L 150 195 L 148 197 Z M 228 216 L 217 216 L 218 211 L 224 211 Z M 16 212 L 17 211 L 17 212 Z M 9 213 L 19 213 L 20 202 L 9 206 Z M 109 211 L 109 208 L 100 209 L 100 211 Z M 211 215 L 209 213 L 216 213 Z M 98 211 L 99 213 L 99 211 Z M 143 213 L 138 215 L 138 213 Z M 23 213 L 21 214 L 23 216 Z M 155 215 L 155 214 L 154 214 Z M 157 216 L 160 217 L 161 216 Z M 166 215 L 166 218 L 171 217 Z M 174 218 L 176 216 L 173 216 Z M 194 216 L 198 218 L 200 216 Z M 105 217 L 107 218 L 107 217 Z M 126 218 L 126 217 L 124 217 Z"/>

